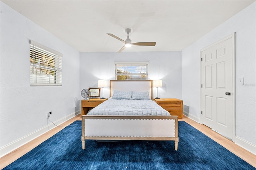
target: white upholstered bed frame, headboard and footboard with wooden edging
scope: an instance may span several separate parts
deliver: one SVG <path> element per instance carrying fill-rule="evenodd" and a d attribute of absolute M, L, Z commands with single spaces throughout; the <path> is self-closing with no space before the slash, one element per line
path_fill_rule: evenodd
<path fill-rule="evenodd" d="M 110 97 L 114 90 L 149 91 L 152 80 L 110 80 Z M 174 140 L 178 150 L 178 116 L 92 116 L 82 115 L 82 149 L 85 140 Z"/>

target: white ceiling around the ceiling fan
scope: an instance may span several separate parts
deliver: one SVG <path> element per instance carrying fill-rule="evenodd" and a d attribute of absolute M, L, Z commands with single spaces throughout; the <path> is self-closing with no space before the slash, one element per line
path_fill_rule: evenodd
<path fill-rule="evenodd" d="M 256 0 L 2 0 L 80 52 L 180 51 Z"/>

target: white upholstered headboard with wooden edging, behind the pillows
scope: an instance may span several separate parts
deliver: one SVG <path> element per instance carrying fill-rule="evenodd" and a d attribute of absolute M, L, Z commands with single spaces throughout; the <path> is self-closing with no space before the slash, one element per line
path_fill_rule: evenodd
<path fill-rule="evenodd" d="M 110 80 L 110 97 L 117 91 L 149 91 L 153 99 L 152 80 Z"/>

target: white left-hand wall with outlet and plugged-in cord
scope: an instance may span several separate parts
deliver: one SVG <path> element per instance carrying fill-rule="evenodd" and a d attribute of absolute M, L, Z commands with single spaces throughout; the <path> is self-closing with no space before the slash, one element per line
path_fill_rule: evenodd
<path fill-rule="evenodd" d="M 80 113 L 80 91 L 79 52 L 6 4 L 0 2 L 0 6 L 2 156 L 48 130 L 52 125 L 47 121 L 49 111 L 53 122 Z M 30 39 L 63 54 L 62 86 L 30 87 Z"/>

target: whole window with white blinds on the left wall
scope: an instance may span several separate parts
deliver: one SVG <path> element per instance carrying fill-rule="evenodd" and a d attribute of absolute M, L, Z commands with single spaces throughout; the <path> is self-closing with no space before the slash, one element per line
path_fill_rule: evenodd
<path fill-rule="evenodd" d="M 62 54 L 30 40 L 30 85 L 62 85 Z"/>

